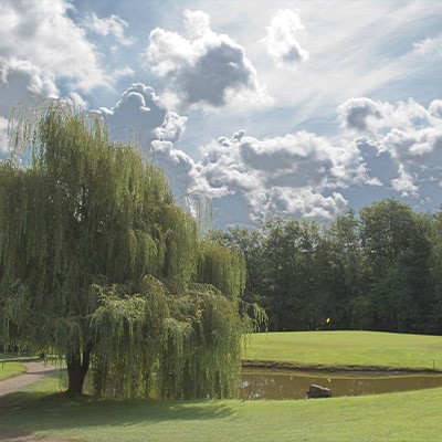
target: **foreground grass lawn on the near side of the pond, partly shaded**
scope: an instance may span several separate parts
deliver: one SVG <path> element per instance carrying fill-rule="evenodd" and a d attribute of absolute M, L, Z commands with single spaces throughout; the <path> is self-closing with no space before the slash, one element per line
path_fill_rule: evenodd
<path fill-rule="evenodd" d="M 0 428 L 82 441 L 440 440 L 442 389 L 298 401 L 70 398 L 45 380 L 0 402 Z"/>

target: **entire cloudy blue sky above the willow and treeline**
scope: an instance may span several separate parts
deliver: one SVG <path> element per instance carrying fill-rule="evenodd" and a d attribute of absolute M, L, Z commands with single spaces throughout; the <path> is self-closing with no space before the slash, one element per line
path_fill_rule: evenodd
<path fill-rule="evenodd" d="M 218 228 L 436 210 L 441 80 L 436 0 L 0 2 L 1 156 L 15 103 L 70 97 Z"/>

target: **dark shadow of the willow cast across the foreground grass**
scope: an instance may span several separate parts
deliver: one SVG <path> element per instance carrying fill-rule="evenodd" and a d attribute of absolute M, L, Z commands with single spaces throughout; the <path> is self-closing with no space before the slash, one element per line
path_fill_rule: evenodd
<path fill-rule="evenodd" d="M 0 428 L 29 432 L 217 420 L 231 413 L 224 401 L 215 400 L 114 400 L 48 392 L 14 392 L 0 399 Z"/>

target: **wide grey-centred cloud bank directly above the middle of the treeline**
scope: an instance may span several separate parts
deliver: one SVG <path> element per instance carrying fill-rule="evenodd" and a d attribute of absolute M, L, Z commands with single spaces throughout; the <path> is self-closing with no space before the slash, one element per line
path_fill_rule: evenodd
<path fill-rule="evenodd" d="M 215 208 L 217 199 L 240 196 L 253 222 L 274 214 L 333 219 L 347 206 L 337 189 L 365 177 L 355 146 L 336 147 L 306 131 L 265 139 L 239 131 L 204 150 L 201 191 L 213 198 Z"/>

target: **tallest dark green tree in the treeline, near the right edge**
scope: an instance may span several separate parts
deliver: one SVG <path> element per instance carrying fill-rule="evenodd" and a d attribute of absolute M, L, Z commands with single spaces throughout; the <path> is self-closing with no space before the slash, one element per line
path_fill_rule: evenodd
<path fill-rule="evenodd" d="M 394 199 L 361 209 L 360 218 L 373 327 L 429 332 L 431 245 L 424 218 Z"/>

